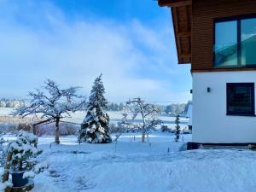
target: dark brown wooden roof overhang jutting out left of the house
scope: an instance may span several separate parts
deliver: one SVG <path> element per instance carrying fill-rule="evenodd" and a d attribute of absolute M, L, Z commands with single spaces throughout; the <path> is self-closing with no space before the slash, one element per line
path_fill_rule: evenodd
<path fill-rule="evenodd" d="M 172 9 L 178 63 L 191 63 L 192 0 L 158 0 L 158 3 Z"/>

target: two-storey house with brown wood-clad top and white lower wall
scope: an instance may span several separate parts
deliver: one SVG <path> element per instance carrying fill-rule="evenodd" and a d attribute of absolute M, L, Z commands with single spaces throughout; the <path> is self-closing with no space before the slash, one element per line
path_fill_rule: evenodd
<path fill-rule="evenodd" d="M 158 0 L 191 64 L 193 143 L 256 143 L 256 1 Z M 174 50 L 172 50 L 174 51 Z"/>

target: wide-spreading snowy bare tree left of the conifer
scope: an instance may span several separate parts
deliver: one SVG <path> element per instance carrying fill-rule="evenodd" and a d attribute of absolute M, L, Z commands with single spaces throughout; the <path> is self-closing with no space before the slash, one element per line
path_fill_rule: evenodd
<path fill-rule="evenodd" d="M 69 87 L 60 89 L 59 84 L 47 79 L 43 86 L 46 93 L 37 89 L 35 92 L 29 92 L 32 97 L 28 107 L 17 108 L 12 115 L 26 117 L 31 114 L 40 115 L 41 119 L 46 121 L 55 121 L 55 143 L 60 143 L 60 120 L 71 117 L 74 113 L 84 106 L 84 96 L 79 96 L 77 91 L 79 87 Z"/>

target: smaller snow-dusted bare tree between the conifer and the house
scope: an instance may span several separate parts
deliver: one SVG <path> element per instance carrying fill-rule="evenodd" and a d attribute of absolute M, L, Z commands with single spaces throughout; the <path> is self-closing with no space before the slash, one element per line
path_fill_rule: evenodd
<path fill-rule="evenodd" d="M 144 102 L 140 97 L 126 102 L 125 108 L 129 108 L 133 113 L 131 119 L 128 119 L 127 113 L 123 114 L 124 118 L 122 124 L 125 125 L 125 129 L 137 129 L 138 131 L 142 131 L 142 142 L 145 142 L 146 135 L 149 142 L 149 130 L 154 129 L 156 125 L 160 125 L 161 123 L 160 119 L 157 118 L 157 108 L 153 104 Z M 136 123 L 136 118 L 142 118 L 143 122 Z"/>

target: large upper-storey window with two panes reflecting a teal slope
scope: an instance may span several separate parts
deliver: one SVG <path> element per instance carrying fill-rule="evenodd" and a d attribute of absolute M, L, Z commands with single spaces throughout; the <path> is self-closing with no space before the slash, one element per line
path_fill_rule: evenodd
<path fill-rule="evenodd" d="M 215 22 L 215 67 L 256 66 L 256 18 Z"/>

